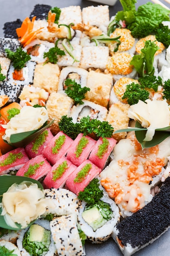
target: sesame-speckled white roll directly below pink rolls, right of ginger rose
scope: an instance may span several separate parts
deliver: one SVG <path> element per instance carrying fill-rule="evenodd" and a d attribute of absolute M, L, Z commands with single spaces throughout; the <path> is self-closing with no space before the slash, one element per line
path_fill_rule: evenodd
<path fill-rule="evenodd" d="M 45 189 L 45 197 L 52 200 L 55 209 L 46 209 L 43 216 L 53 213 L 57 216 L 68 215 L 71 213 L 79 213 L 79 200 L 77 195 L 68 189 Z"/>

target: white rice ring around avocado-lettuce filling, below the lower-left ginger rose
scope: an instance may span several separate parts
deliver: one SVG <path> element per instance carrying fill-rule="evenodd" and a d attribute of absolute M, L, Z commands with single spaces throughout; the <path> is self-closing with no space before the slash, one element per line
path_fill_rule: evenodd
<path fill-rule="evenodd" d="M 38 224 L 41 227 L 43 227 L 44 229 L 50 230 L 50 222 L 48 220 L 38 219 L 34 222 L 34 224 Z M 27 227 L 26 229 L 22 229 L 18 236 L 17 246 L 18 246 L 18 249 L 20 250 L 21 256 L 30 256 L 30 254 L 28 252 L 26 252 L 26 250 L 23 248 L 23 245 L 22 245 L 24 235 L 25 235 L 26 231 L 28 231 L 28 229 L 29 229 L 29 227 Z M 51 244 L 49 246 L 49 251 L 46 254 L 44 254 L 44 256 L 55 256 L 56 253 L 57 252 L 56 252 L 55 243 L 53 241 L 52 234 L 51 234 Z"/>

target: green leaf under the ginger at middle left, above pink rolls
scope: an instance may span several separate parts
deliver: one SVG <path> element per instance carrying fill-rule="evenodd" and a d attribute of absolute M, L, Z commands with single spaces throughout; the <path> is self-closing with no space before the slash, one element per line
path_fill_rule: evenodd
<path fill-rule="evenodd" d="M 51 126 L 51 124 L 53 124 L 54 119 L 47 124 L 46 126 L 44 126 L 41 129 L 37 129 L 37 130 L 32 130 L 32 131 L 28 131 L 28 132 L 20 132 L 20 133 L 16 133 L 16 134 L 12 134 L 10 136 L 10 141 L 11 143 L 8 143 L 6 140 L 4 140 L 5 143 L 15 147 L 15 148 L 20 148 L 20 147 L 25 147 L 27 144 L 29 144 L 33 139 L 35 139 L 35 137 L 37 137 L 38 135 L 40 135 L 44 130 L 46 130 L 47 128 L 49 128 L 49 126 Z"/>

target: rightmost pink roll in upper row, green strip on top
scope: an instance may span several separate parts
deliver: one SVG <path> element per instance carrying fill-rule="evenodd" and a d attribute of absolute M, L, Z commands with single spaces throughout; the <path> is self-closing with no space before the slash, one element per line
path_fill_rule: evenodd
<path fill-rule="evenodd" d="M 100 137 L 91 151 L 88 159 L 103 170 L 114 146 L 116 145 L 116 142 L 117 141 L 113 138 Z"/>

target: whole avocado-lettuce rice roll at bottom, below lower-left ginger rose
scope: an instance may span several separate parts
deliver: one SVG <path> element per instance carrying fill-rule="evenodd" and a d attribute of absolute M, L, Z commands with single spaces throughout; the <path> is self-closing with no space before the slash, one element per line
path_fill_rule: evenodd
<path fill-rule="evenodd" d="M 38 219 L 30 227 L 22 229 L 18 236 L 17 246 L 21 256 L 57 255 L 48 220 Z"/>

